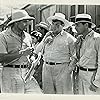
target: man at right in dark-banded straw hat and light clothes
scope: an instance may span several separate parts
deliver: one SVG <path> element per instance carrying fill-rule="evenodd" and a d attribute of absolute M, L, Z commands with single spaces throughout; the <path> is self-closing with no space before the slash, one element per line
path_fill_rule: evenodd
<path fill-rule="evenodd" d="M 76 52 L 76 56 L 79 55 L 79 94 L 84 95 L 100 94 L 100 34 L 92 30 L 95 26 L 89 14 L 76 15 L 75 28 L 82 37 L 80 50 Z"/>

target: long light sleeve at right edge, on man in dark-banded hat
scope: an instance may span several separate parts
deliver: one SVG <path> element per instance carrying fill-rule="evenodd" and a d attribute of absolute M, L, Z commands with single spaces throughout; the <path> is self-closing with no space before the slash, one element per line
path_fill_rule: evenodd
<path fill-rule="evenodd" d="M 97 72 L 93 84 L 100 88 L 100 37 L 96 39 L 95 47 L 97 50 Z"/>

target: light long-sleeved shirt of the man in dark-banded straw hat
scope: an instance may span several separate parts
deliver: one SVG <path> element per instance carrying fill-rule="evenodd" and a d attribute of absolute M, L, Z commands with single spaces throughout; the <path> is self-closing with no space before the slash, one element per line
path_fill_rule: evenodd
<path fill-rule="evenodd" d="M 96 68 L 94 84 L 100 87 L 100 34 L 91 31 L 83 41 L 78 64 L 84 68 Z"/>

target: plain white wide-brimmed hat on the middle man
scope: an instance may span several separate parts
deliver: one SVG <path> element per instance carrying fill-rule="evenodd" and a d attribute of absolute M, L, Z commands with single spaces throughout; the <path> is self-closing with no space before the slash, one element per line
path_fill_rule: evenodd
<path fill-rule="evenodd" d="M 52 24 L 53 20 L 59 20 L 64 23 L 64 27 L 70 25 L 69 21 L 65 19 L 65 15 L 62 13 L 55 13 L 54 16 L 50 16 L 47 18 L 47 21 Z"/>

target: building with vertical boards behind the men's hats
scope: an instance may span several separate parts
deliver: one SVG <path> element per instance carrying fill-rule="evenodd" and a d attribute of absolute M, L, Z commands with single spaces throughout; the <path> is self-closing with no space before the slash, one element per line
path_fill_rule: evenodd
<path fill-rule="evenodd" d="M 15 9 L 15 8 L 14 8 Z M 88 13 L 92 16 L 93 22 L 98 27 L 100 25 L 100 5 L 36 5 L 27 4 L 23 7 L 19 6 L 16 9 L 25 9 L 35 20 L 28 26 L 27 31 L 35 30 L 35 24 L 40 21 L 45 21 L 47 17 L 54 15 L 56 12 L 61 12 L 66 15 L 69 21 L 75 21 L 75 15 L 78 13 Z M 12 13 L 13 10 L 11 10 Z M 5 25 L 4 25 L 5 26 Z M 0 26 L 2 27 L 2 26 Z"/>

